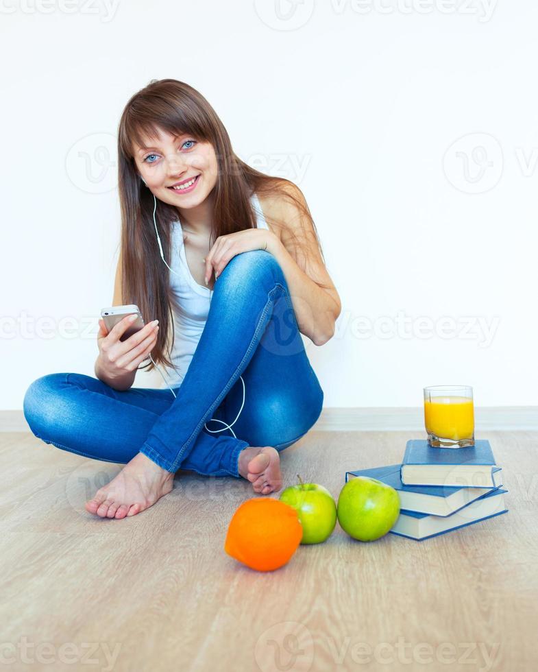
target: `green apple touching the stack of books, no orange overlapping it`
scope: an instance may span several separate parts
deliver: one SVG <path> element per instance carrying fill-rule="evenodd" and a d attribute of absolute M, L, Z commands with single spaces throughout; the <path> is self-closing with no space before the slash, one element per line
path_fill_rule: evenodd
<path fill-rule="evenodd" d="M 358 476 L 347 481 L 338 498 L 338 522 L 359 541 L 379 539 L 400 515 L 400 496 L 390 485 Z"/>

